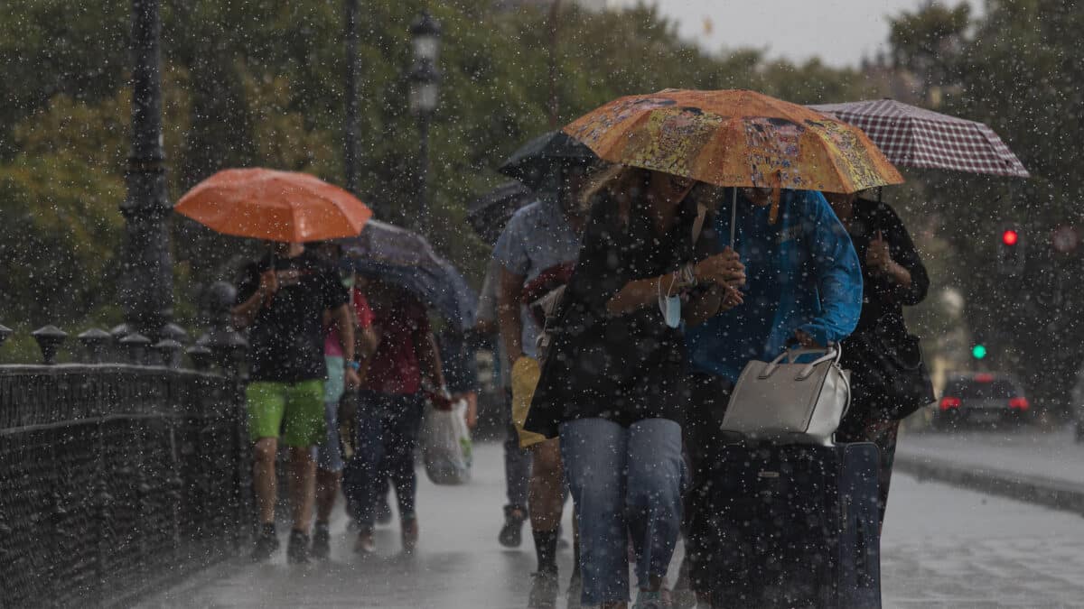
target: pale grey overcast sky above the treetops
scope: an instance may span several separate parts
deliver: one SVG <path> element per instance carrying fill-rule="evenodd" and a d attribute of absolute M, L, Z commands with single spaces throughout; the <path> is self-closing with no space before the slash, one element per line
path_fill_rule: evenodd
<path fill-rule="evenodd" d="M 913 11 L 925 0 L 655 1 L 679 23 L 683 36 L 710 51 L 754 47 L 766 49 L 770 57 L 801 62 L 820 55 L 829 65 L 847 66 L 887 50 L 888 17 Z M 972 7 L 977 4 L 971 1 Z M 706 20 L 711 22 L 710 34 L 706 34 Z"/>

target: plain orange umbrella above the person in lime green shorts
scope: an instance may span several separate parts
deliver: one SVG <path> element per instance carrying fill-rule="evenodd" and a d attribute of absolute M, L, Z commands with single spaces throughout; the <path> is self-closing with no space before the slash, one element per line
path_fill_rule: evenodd
<path fill-rule="evenodd" d="M 373 216 L 357 197 L 308 173 L 225 169 L 173 210 L 227 235 L 284 243 L 352 237 Z"/>

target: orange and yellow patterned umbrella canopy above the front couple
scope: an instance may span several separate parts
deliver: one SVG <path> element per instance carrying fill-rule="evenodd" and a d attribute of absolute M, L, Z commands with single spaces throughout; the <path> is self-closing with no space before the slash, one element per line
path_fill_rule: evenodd
<path fill-rule="evenodd" d="M 619 98 L 565 132 L 605 160 L 719 186 L 852 193 L 903 182 L 860 129 L 753 91 Z"/>

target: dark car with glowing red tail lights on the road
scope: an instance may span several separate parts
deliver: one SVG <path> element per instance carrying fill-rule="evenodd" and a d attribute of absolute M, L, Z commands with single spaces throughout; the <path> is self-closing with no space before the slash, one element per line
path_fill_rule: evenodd
<path fill-rule="evenodd" d="M 959 423 L 1021 423 L 1031 404 L 1023 388 L 1009 375 L 995 373 L 956 374 L 949 377 L 938 402 L 933 425 L 940 429 Z"/>

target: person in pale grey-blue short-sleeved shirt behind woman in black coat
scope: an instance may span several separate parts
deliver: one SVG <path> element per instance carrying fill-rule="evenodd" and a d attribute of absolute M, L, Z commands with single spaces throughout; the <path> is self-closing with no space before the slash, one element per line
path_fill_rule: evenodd
<path fill-rule="evenodd" d="M 557 540 L 565 487 L 557 439 L 546 440 L 524 429 L 539 376 L 535 340 L 540 328 L 522 307 L 520 297 L 524 285 L 542 271 L 576 260 L 584 222 L 578 193 L 585 183 L 586 172 L 585 166 L 564 168 L 558 192 L 542 194 L 539 200 L 516 211 L 493 248 L 493 259 L 502 267 L 498 322 L 512 376 L 513 425 L 519 445 L 530 449 L 532 461 L 528 507 L 538 557 L 529 600 L 532 608 L 553 607 L 559 592 Z M 571 586 L 575 585 L 573 580 Z"/>

